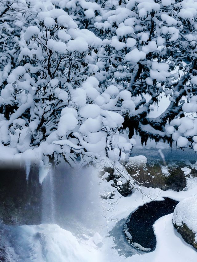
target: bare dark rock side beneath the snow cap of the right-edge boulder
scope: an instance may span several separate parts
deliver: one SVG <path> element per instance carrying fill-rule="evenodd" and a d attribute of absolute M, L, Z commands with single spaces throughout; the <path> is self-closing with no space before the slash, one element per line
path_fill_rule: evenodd
<path fill-rule="evenodd" d="M 175 223 L 173 223 L 174 227 L 177 229 L 177 231 L 181 234 L 185 242 L 188 244 L 191 244 L 194 248 L 197 249 L 197 242 L 195 241 L 195 233 L 193 233 L 192 230 L 188 229 L 186 224 L 183 224 L 183 226 L 178 226 Z"/>

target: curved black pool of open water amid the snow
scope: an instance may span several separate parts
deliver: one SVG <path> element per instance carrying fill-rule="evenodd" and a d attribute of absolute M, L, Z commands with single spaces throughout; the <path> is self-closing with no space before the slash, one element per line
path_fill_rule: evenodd
<path fill-rule="evenodd" d="M 153 224 L 160 217 L 173 213 L 177 204 L 178 201 L 165 198 L 140 206 L 125 224 L 123 231 L 127 241 L 141 251 L 153 251 L 156 247 Z"/>

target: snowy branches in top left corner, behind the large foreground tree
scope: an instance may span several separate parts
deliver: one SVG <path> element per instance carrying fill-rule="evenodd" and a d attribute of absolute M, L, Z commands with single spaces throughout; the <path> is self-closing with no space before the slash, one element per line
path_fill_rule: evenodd
<path fill-rule="evenodd" d="M 35 24 L 39 11 L 54 8 L 52 3 L 37 1 L 0 1 L 0 76 L 1 89 L 11 70 L 19 65 L 18 55 L 25 42 L 22 35 L 27 27 Z"/>

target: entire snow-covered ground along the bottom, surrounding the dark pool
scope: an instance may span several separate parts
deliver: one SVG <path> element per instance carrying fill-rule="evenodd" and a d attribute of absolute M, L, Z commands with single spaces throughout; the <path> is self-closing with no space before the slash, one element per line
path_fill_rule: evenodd
<path fill-rule="evenodd" d="M 102 191 L 106 186 L 109 183 L 103 181 L 98 187 Z M 128 197 L 122 197 L 116 192 L 113 200 L 103 200 L 98 220 L 95 221 L 95 217 L 92 217 L 92 223 L 97 225 L 94 233 L 84 231 L 84 234 L 76 234 L 76 230 L 74 233 L 72 228 L 69 232 L 53 224 L 4 226 L 1 229 L 4 237 L 0 245 L 4 243 L 4 250 L 8 254 L 6 262 L 196 262 L 197 252 L 173 227 L 173 214 L 155 222 L 157 245 L 153 252 L 139 253 L 124 242 L 122 232 L 124 220 L 140 205 L 155 199 L 163 200 L 163 197 L 181 201 L 194 196 L 196 192 L 197 178 L 187 178 L 187 186 L 180 192 L 146 187 L 138 187 Z M 115 234 L 109 234 L 112 229 L 116 230 L 119 239 L 114 240 Z M 115 243 L 120 242 L 123 249 L 125 248 L 125 256 L 124 250 L 120 252 L 120 247 L 115 246 Z M 130 250 L 132 256 L 128 255 Z"/>

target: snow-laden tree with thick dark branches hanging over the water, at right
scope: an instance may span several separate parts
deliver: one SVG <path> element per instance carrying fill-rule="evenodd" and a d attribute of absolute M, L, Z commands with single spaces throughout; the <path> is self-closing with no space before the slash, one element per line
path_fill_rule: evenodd
<path fill-rule="evenodd" d="M 94 25 L 107 38 L 99 53 L 105 82 L 118 83 L 135 102 L 135 111 L 124 122 L 130 137 L 137 131 L 142 142 L 176 141 L 178 134 L 171 137 L 172 128 L 166 130 L 166 124 L 184 116 L 184 100 L 196 92 L 195 2 L 128 1 L 105 13 L 103 20 Z M 150 118 L 162 96 L 169 97 L 167 109 Z"/>

